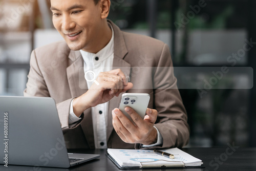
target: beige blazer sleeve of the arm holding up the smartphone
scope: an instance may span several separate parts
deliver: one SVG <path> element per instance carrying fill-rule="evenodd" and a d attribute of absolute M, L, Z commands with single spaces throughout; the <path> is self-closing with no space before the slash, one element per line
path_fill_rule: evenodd
<path fill-rule="evenodd" d="M 188 143 L 189 126 L 166 44 L 163 46 L 153 77 L 154 109 L 158 111 L 155 126 L 163 137 L 163 144 L 149 148 L 182 147 Z M 135 148 L 142 148 L 142 145 L 136 144 Z"/>

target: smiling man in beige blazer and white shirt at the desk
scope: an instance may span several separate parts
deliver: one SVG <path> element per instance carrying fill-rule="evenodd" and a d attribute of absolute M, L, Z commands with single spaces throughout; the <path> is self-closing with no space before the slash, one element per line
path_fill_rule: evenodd
<path fill-rule="evenodd" d="M 110 4 L 51 0 L 53 24 L 65 42 L 32 52 L 24 95 L 56 101 L 68 148 L 185 145 L 187 116 L 167 45 L 120 31 L 106 19 Z M 151 95 L 144 119 L 125 108 L 136 125 L 117 109 L 123 92 Z"/>

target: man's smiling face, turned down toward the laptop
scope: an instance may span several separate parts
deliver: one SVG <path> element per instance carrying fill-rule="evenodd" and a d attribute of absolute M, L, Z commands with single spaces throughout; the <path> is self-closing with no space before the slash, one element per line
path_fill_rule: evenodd
<path fill-rule="evenodd" d="M 53 25 L 72 50 L 90 52 L 100 40 L 100 5 L 93 0 L 51 0 Z"/>

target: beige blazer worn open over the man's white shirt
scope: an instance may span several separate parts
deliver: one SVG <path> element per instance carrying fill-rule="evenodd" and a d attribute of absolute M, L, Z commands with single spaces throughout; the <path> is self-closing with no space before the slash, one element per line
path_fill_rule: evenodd
<path fill-rule="evenodd" d="M 189 127 L 168 46 L 151 37 L 122 32 L 109 22 L 115 35 L 113 69 L 121 68 L 130 76 L 134 88 L 127 92 L 151 95 L 148 108 L 158 111 L 155 126 L 163 137 L 163 145 L 158 147 L 184 146 L 189 139 Z M 71 100 L 87 90 L 82 56 L 79 51 L 70 50 L 65 41 L 32 52 L 24 96 L 52 97 L 55 100 L 68 148 L 95 148 L 91 109 L 83 112 L 78 123 L 70 127 L 68 124 Z M 109 103 L 108 147 L 141 148 L 141 144 L 124 143 L 113 129 L 111 111 L 118 108 L 120 99 L 121 95 Z"/>

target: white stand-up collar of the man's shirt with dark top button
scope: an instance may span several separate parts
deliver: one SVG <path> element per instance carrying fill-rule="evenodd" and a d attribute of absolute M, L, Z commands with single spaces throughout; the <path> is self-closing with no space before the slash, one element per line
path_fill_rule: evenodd
<path fill-rule="evenodd" d="M 109 24 L 109 27 L 112 30 L 112 37 L 111 37 L 108 45 L 106 45 L 98 53 L 90 53 L 90 52 L 80 50 L 83 61 L 86 64 L 93 63 L 93 65 L 95 66 L 98 63 L 101 63 L 105 59 L 109 58 L 114 53 L 114 30 L 113 30 L 113 27 L 110 24 Z"/>

